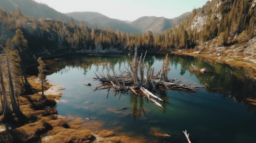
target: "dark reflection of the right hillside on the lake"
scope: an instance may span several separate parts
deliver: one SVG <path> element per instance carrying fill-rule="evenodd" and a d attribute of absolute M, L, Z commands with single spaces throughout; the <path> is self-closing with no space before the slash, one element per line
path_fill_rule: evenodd
<path fill-rule="evenodd" d="M 200 84 L 205 85 L 210 93 L 218 93 L 223 98 L 234 99 L 243 105 L 248 105 L 246 98 L 256 97 L 256 81 L 242 78 L 248 74 L 246 70 L 189 56 L 177 56 L 174 59 L 174 64 L 178 62 L 181 65 L 181 75 L 184 74 L 184 70 L 188 70 L 198 78 Z M 202 68 L 207 69 L 206 74 L 199 73 Z M 255 106 L 249 105 L 248 107 L 248 110 L 256 112 Z"/>

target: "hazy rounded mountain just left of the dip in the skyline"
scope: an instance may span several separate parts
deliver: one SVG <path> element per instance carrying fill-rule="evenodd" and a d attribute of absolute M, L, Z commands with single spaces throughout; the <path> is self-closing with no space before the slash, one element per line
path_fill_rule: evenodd
<path fill-rule="evenodd" d="M 141 33 L 140 29 L 136 29 L 135 27 L 131 26 L 127 22 L 112 19 L 105 15 L 102 15 L 101 13 L 97 12 L 72 12 L 72 13 L 66 13 L 68 16 L 72 16 L 75 19 L 78 20 L 84 20 L 88 21 L 91 24 L 97 24 L 97 26 L 101 26 L 102 28 L 110 28 L 110 26 L 115 30 L 120 30 L 125 33 L 133 33 L 138 34 Z M 92 25 L 91 25 L 92 26 Z"/>

